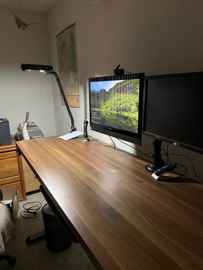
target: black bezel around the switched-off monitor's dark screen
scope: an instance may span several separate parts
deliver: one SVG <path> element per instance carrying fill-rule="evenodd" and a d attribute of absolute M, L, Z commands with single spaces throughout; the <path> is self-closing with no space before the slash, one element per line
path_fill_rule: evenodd
<path fill-rule="evenodd" d="M 182 147 L 184 149 L 188 149 L 191 151 L 194 151 L 196 153 L 203 154 L 203 149 L 200 149 L 198 147 L 194 147 L 188 144 L 184 144 L 179 141 L 174 141 L 169 138 L 165 138 L 162 136 L 159 136 L 159 134 L 152 134 L 145 130 L 145 124 L 146 124 L 146 102 L 147 102 L 147 90 L 148 90 L 148 81 L 154 80 L 154 79 L 167 79 L 167 78 L 179 78 L 179 77 L 203 77 L 203 72 L 189 72 L 189 73 L 177 73 L 177 74 L 166 74 L 166 75 L 155 75 L 155 76 L 145 76 L 144 79 L 144 93 L 143 93 L 143 118 L 142 118 L 142 134 L 152 137 L 154 139 L 158 139 L 161 141 L 164 141 L 166 143 L 173 144 L 175 146 Z"/>

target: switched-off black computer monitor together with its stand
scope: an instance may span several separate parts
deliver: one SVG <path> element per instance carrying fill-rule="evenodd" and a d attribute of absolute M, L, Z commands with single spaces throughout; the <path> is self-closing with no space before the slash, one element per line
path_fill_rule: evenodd
<path fill-rule="evenodd" d="M 164 166 L 161 141 L 203 154 L 202 90 L 203 72 L 145 77 L 142 134 L 156 144 L 156 161 L 146 170 Z"/>

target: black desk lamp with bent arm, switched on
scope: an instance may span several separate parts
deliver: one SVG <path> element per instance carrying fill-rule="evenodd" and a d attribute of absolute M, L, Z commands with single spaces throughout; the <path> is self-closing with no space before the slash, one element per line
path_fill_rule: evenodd
<path fill-rule="evenodd" d="M 22 64 L 20 66 L 20 69 L 22 71 L 26 71 L 26 70 L 40 70 L 41 72 L 44 72 L 44 74 L 53 74 L 56 78 L 56 81 L 58 83 L 58 87 L 61 91 L 61 95 L 63 97 L 63 100 L 65 102 L 65 106 L 66 106 L 66 109 L 68 110 L 68 114 L 70 116 L 70 119 L 71 119 L 71 131 L 70 132 L 73 132 L 73 131 L 76 131 L 76 128 L 75 128 L 75 122 L 73 120 L 73 116 L 72 116 L 72 113 L 71 113 L 71 110 L 68 106 L 68 102 L 66 100 L 66 97 L 65 97 L 65 94 L 64 94 L 64 90 L 61 86 L 61 82 L 59 80 L 59 77 L 57 75 L 56 72 L 53 71 L 53 67 L 52 66 L 46 66 L 46 65 L 33 65 L 33 64 Z"/>

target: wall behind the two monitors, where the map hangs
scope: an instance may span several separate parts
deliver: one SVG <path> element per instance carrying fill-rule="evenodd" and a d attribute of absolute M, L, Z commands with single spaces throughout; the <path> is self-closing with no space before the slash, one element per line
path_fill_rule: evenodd
<path fill-rule="evenodd" d="M 56 35 L 76 22 L 79 92 L 81 109 L 71 108 L 77 130 L 89 118 L 88 78 L 113 75 L 118 64 L 125 71 L 145 75 L 196 72 L 203 70 L 202 1 L 182 0 L 59 0 L 48 12 L 51 64 L 58 72 Z M 70 130 L 66 108 L 60 106 L 57 84 L 52 79 L 54 112 L 58 134 Z M 89 135 L 112 144 L 108 136 L 89 131 Z M 117 147 L 134 152 L 114 139 Z M 143 136 L 145 153 L 152 152 L 153 139 Z M 132 144 L 131 144 L 132 145 Z M 166 144 L 163 143 L 166 149 Z M 169 146 L 169 153 L 187 155 L 203 180 L 202 155 Z M 188 168 L 185 157 L 170 156 Z M 179 170 L 183 172 L 183 170 Z"/>

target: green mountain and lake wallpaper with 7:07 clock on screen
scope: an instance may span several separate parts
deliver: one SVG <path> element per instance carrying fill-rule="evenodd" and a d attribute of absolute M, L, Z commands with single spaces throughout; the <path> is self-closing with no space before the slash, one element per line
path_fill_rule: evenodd
<path fill-rule="evenodd" d="M 90 82 L 92 122 L 137 133 L 139 79 Z"/>

